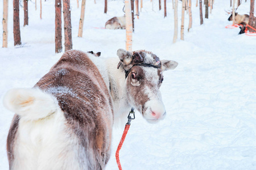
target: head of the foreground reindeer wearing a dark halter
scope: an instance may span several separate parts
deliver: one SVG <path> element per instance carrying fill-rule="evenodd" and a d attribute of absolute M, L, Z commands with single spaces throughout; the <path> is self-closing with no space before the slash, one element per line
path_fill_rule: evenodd
<path fill-rule="evenodd" d="M 177 62 L 159 60 L 144 50 L 127 52 L 117 51 L 119 66 L 126 71 L 126 96 L 129 104 L 142 113 L 151 123 L 158 122 L 166 116 L 160 86 L 163 82 L 163 71 L 175 69 Z"/>

